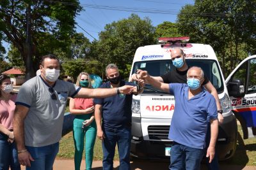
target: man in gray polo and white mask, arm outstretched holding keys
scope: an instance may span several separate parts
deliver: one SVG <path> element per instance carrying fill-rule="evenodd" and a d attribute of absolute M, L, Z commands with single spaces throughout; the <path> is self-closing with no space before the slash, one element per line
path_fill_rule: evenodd
<path fill-rule="evenodd" d="M 60 63 L 54 55 L 42 57 L 40 76 L 26 81 L 16 100 L 13 131 L 18 157 L 26 169 L 50 170 L 58 153 L 68 97 L 109 97 L 131 94 L 134 87 L 81 89 L 58 80 Z"/>

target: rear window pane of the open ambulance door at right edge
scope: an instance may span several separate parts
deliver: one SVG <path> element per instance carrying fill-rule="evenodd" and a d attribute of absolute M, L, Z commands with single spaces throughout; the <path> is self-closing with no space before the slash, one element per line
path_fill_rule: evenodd
<path fill-rule="evenodd" d="M 256 93 L 256 59 L 250 60 L 247 94 Z"/>

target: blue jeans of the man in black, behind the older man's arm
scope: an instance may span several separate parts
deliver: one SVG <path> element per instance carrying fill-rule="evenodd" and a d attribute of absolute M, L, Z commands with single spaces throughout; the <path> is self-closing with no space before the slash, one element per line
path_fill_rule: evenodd
<path fill-rule="evenodd" d="M 210 140 L 211 140 L 211 124 L 209 123 L 208 128 L 207 128 L 206 138 L 205 138 L 205 144 L 206 144 L 205 152 L 206 153 L 207 153 L 207 148 L 209 147 L 209 144 L 210 144 Z M 219 170 L 220 169 L 219 162 L 218 162 L 218 155 L 216 153 L 216 150 L 215 150 L 215 155 L 214 155 L 214 158 L 212 159 L 212 162 L 209 163 L 209 157 L 208 157 L 208 158 L 206 158 L 206 164 L 207 164 L 207 168 L 209 170 Z"/>

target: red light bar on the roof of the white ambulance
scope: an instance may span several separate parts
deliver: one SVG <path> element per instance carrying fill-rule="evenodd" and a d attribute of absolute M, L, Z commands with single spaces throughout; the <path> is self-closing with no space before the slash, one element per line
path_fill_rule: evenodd
<path fill-rule="evenodd" d="M 158 39 L 158 42 L 161 44 L 162 48 L 168 47 L 168 46 L 187 46 L 187 42 L 189 41 L 188 36 L 184 37 L 161 37 Z"/>

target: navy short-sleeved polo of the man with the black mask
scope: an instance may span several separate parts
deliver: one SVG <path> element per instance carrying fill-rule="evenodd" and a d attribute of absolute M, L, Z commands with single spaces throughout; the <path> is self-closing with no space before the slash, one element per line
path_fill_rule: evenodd
<path fill-rule="evenodd" d="M 134 83 L 121 81 L 120 86 Z M 100 88 L 111 88 L 110 82 L 103 83 Z M 118 127 L 131 127 L 132 94 L 116 94 L 104 99 L 95 98 L 95 104 L 102 105 L 102 127 L 113 129 Z"/>

